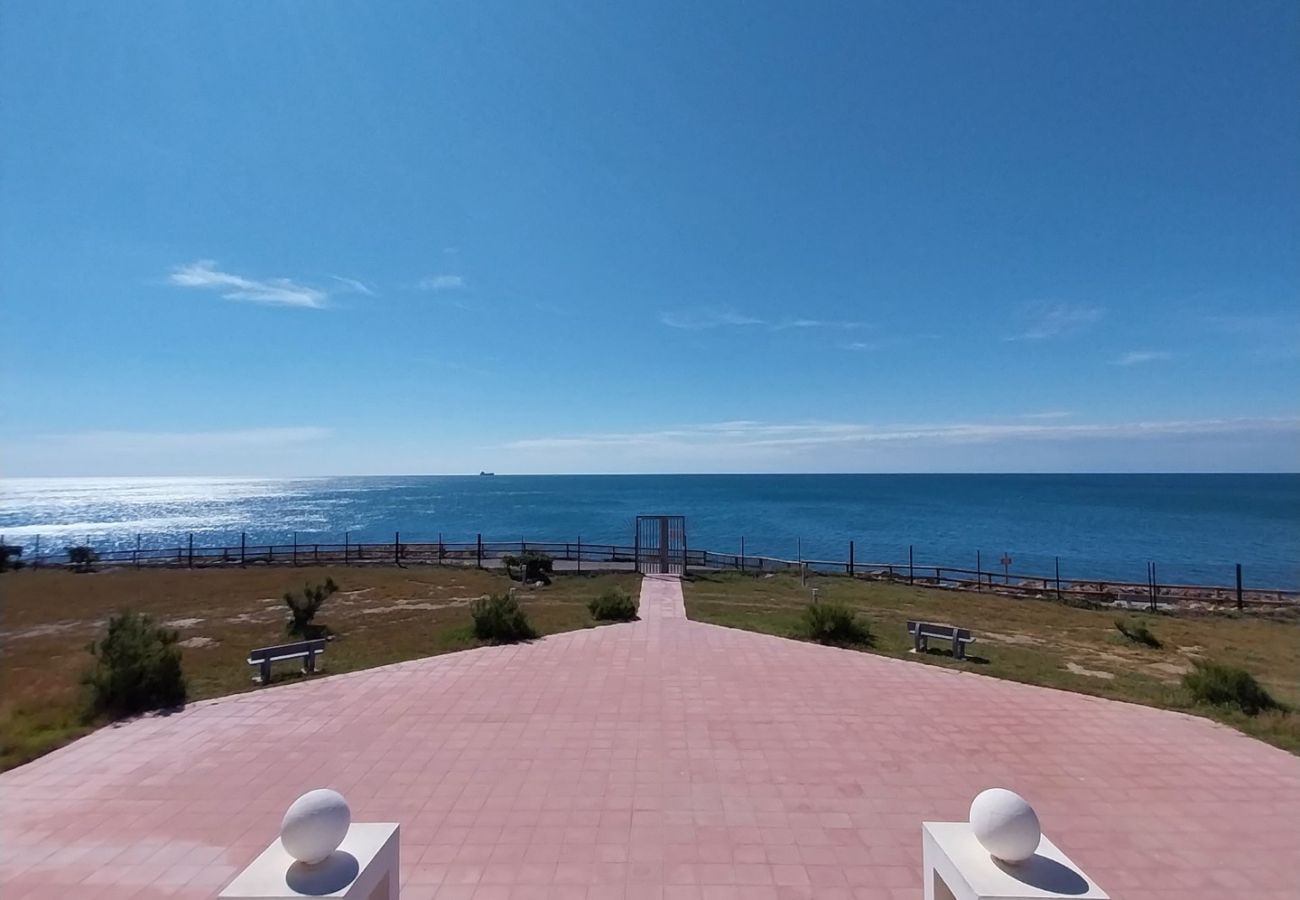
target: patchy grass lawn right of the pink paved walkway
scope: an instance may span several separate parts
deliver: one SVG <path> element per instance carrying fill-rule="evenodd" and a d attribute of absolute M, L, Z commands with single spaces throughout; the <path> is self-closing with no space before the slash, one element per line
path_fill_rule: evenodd
<path fill-rule="evenodd" d="M 820 600 L 854 607 L 872 632 L 871 653 L 965 668 L 1028 684 L 1162 706 L 1214 718 L 1300 753 L 1300 713 L 1248 717 L 1196 705 L 1182 687 L 1192 659 L 1240 666 L 1279 701 L 1300 709 L 1300 618 L 1117 613 L 968 592 L 936 590 L 846 576 L 696 575 L 684 583 L 686 615 L 699 622 L 793 637 L 818 589 Z M 1115 619 L 1145 622 L 1162 642 L 1124 639 Z M 975 642 L 959 662 L 945 649 L 913 654 L 909 619 L 968 628 Z"/>

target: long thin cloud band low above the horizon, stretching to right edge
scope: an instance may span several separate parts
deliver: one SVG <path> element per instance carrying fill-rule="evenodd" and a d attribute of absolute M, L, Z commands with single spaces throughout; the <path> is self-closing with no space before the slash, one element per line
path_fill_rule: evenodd
<path fill-rule="evenodd" d="M 1041 414 L 1031 414 L 1041 415 Z M 1052 414 L 1054 415 L 1054 414 Z M 870 443 L 987 443 L 996 441 L 1132 440 L 1158 437 L 1212 437 L 1230 434 L 1297 434 L 1300 417 L 1264 419 L 1183 419 L 1165 421 L 1124 421 L 1095 424 L 1065 423 L 942 423 L 868 424 L 810 423 L 768 424 L 724 421 L 684 428 L 537 437 L 504 445 L 515 450 L 581 449 L 806 449 Z"/>

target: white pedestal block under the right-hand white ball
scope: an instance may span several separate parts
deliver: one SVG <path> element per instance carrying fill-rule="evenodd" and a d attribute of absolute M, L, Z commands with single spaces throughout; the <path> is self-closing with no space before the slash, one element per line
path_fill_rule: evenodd
<path fill-rule="evenodd" d="M 968 822 L 922 822 L 926 900 L 1109 900 L 1046 835 L 1024 862 L 1002 862 Z"/>

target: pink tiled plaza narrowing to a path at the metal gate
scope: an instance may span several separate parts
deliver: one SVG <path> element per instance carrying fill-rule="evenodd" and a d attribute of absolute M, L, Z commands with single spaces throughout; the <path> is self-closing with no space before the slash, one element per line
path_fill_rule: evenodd
<path fill-rule="evenodd" d="M 1188 715 L 642 620 L 104 728 L 0 775 L 0 896 L 214 896 L 332 787 L 404 900 L 918 900 L 920 823 L 1023 793 L 1112 897 L 1300 897 L 1300 760 Z M 971 623 L 978 624 L 978 623 Z"/>

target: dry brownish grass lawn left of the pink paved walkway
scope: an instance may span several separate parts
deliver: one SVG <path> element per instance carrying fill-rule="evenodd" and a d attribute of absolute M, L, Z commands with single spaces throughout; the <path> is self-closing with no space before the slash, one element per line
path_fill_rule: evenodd
<path fill-rule="evenodd" d="M 502 572 L 437 567 L 247 570 L 22 570 L 0 575 L 0 770 L 91 731 L 81 717 L 79 675 L 113 613 L 136 610 L 181 633 L 190 698 L 255 689 L 248 650 L 285 635 L 286 590 L 333 577 L 339 593 L 316 616 L 337 635 L 318 665 L 325 675 L 478 646 L 469 602 L 504 593 Z M 608 587 L 633 597 L 636 575 L 558 575 L 520 592 L 542 635 L 597 624 L 586 602 Z M 290 663 L 274 679 L 302 678 Z"/>

